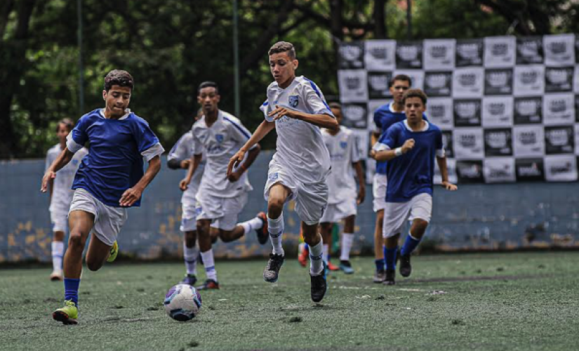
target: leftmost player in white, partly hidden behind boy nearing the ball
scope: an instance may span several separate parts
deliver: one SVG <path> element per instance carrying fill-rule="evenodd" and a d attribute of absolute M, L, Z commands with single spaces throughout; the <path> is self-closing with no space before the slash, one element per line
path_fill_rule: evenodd
<path fill-rule="evenodd" d="M 72 131 L 74 122 L 71 119 L 62 119 L 56 126 L 56 136 L 58 137 L 58 144 L 51 147 L 46 153 L 46 167 L 44 171 L 48 170 L 58 155 L 67 147 L 67 135 Z M 68 209 L 70 208 L 70 201 L 72 201 L 72 194 L 74 192 L 70 189 L 74 173 L 79 168 L 79 163 L 83 157 L 88 154 L 86 147 L 83 147 L 79 152 L 74 154 L 72 161 L 58 172 L 58 178 L 49 180 L 48 187 L 51 194 L 51 206 L 48 210 L 51 212 L 51 223 L 53 225 L 53 241 L 52 241 L 52 265 L 53 272 L 51 273 L 51 280 L 62 281 L 62 256 L 65 255 L 65 234 L 68 229 Z"/>

